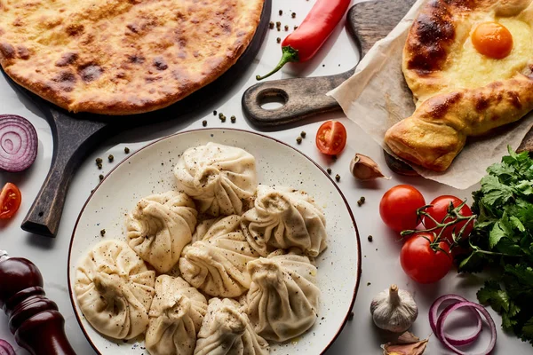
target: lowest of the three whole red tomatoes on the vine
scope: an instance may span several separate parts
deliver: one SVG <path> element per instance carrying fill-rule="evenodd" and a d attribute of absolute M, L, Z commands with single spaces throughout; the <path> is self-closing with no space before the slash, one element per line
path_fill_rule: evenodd
<path fill-rule="evenodd" d="M 433 283 L 441 280 L 451 269 L 453 258 L 448 242 L 441 240 L 432 248 L 434 238 L 434 233 L 417 233 L 403 244 L 400 264 L 412 280 Z"/>

